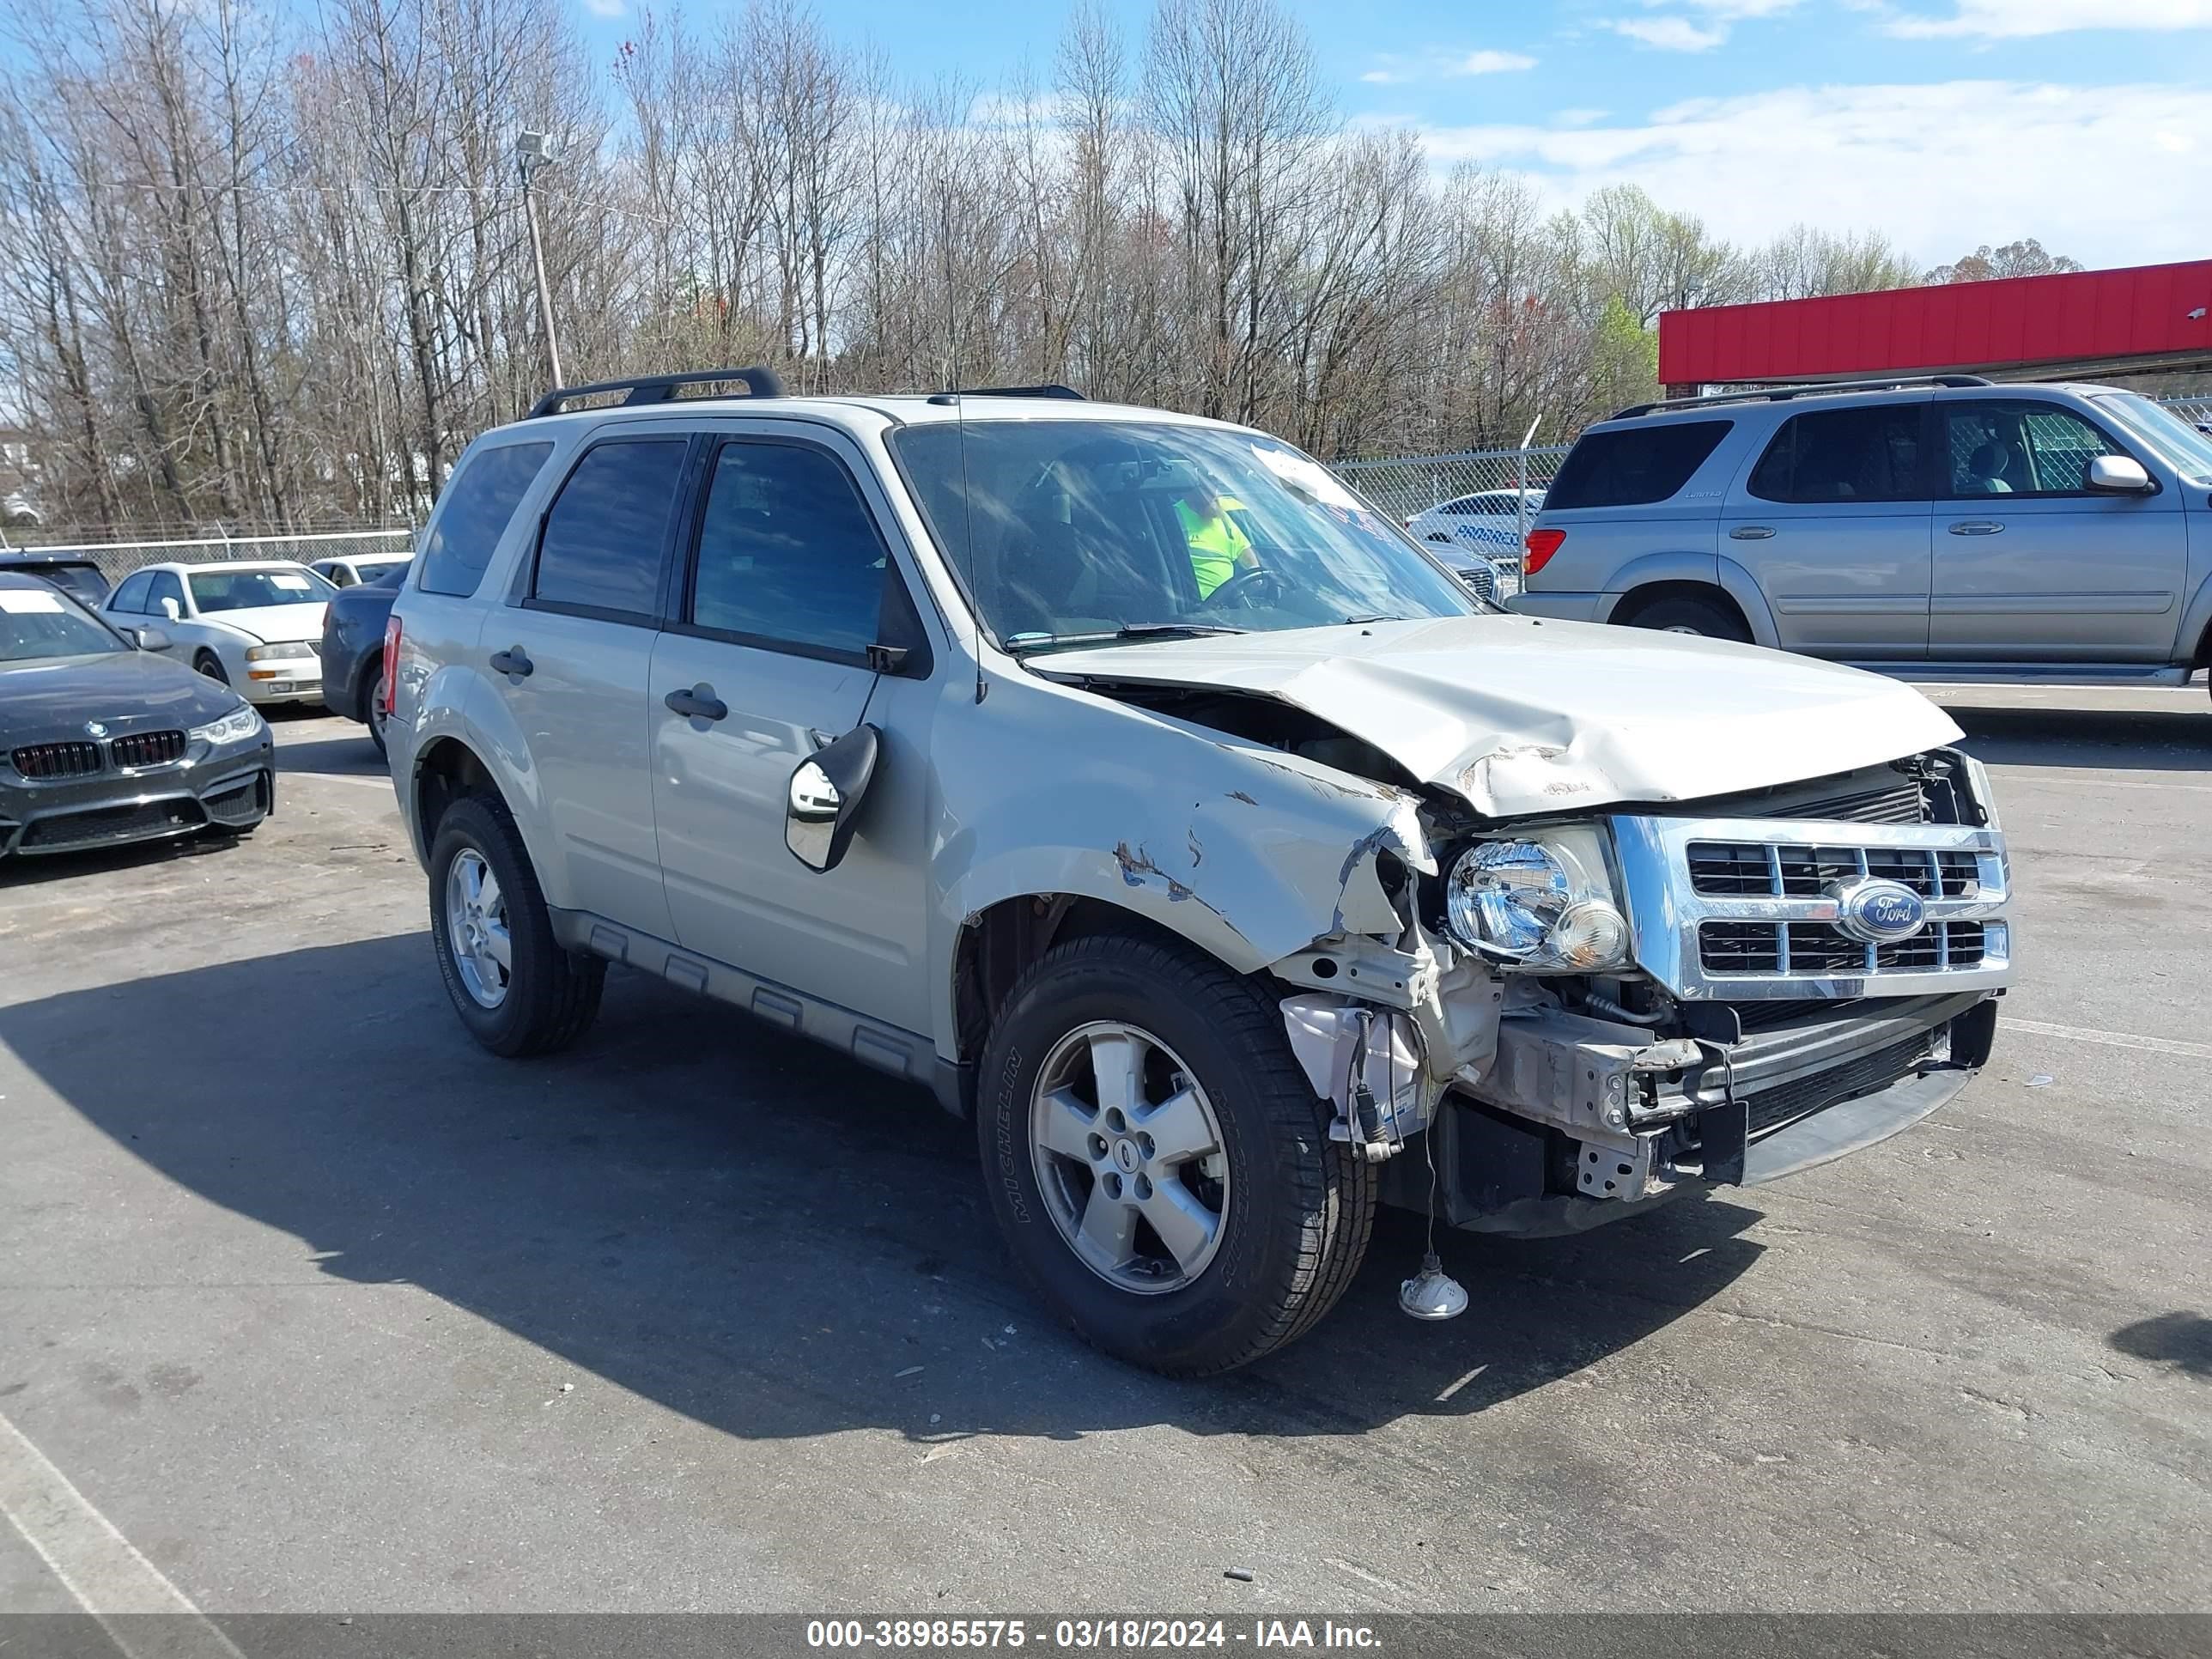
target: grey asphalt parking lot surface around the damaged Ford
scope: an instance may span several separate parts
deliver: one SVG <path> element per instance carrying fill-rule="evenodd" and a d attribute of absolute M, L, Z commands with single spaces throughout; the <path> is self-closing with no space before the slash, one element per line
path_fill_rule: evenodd
<path fill-rule="evenodd" d="M 1385 1219 L 1206 1385 L 1037 1316 L 920 1093 L 622 971 L 480 1053 L 361 728 L 279 721 L 250 841 L 0 867 L 0 1606 L 104 1517 L 210 1613 L 2208 1608 L 2212 706 L 1940 701 L 2020 889 L 1960 1102 L 1447 1237 L 1453 1325 Z"/>

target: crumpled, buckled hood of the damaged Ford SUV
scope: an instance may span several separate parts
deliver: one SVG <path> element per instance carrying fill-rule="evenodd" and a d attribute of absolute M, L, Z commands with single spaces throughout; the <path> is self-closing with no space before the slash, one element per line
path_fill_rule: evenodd
<path fill-rule="evenodd" d="M 1062 650 L 1053 679 L 1245 690 L 1352 732 L 1489 818 L 1699 801 L 1960 737 L 1882 675 L 1692 635 L 1444 617 Z"/>

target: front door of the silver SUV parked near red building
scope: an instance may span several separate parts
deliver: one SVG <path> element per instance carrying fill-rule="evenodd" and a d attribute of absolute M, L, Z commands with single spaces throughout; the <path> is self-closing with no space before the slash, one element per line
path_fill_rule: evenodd
<path fill-rule="evenodd" d="M 2148 449 L 2051 398 L 1944 398 L 1929 650 L 1958 661 L 2168 661 L 2188 529 Z M 2097 456 L 2132 456 L 2152 495 L 2088 489 Z"/>

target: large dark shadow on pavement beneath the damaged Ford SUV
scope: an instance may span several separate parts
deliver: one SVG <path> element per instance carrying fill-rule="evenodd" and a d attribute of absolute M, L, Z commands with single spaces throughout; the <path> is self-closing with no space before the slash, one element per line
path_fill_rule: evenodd
<path fill-rule="evenodd" d="M 239 1035 L 208 1009 L 283 1009 L 252 1062 L 290 1084 L 241 1088 Z M 164 1040 L 106 1042 L 117 1029 Z M 420 1285 L 748 1438 L 1460 1416 L 1666 1327 L 1761 1250 L 1736 1237 L 1759 1212 L 1714 1201 L 1584 1239 L 1444 1234 L 1473 1305 L 1416 1325 L 1396 1290 L 1420 1223 L 1385 1217 L 1305 1340 L 1179 1385 L 1051 1327 L 1000 1254 L 971 1130 L 922 1091 L 635 973 L 546 1062 L 462 1035 L 422 933 L 24 1002 L 0 1009 L 0 1040 L 119 1146 L 296 1234 L 323 1272 Z M 896 1376 L 916 1365 L 942 1427 Z"/>

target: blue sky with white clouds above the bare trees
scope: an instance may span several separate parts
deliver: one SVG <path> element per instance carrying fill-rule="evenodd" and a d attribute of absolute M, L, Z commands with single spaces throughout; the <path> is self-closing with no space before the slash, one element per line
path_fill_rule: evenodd
<path fill-rule="evenodd" d="M 608 51 L 641 0 L 573 0 Z M 712 15 L 737 0 L 692 0 Z M 1046 73 L 1055 0 L 816 0 L 920 77 Z M 1613 181 L 1736 241 L 1796 219 L 1936 263 L 2033 234 L 2212 257 L 2212 0 L 1290 0 L 1347 117 L 1562 206 Z M 1115 0 L 1130 42 L 1148 0 Z M 615 13 L 615 15 L 608 15 Z"/>

